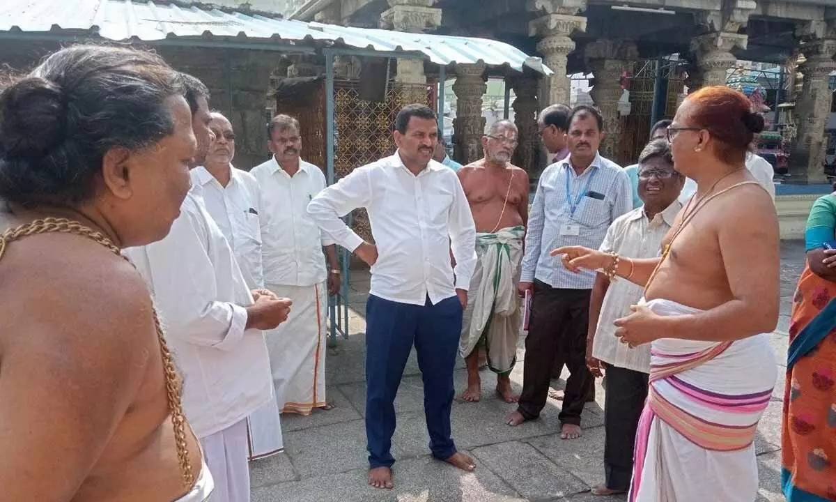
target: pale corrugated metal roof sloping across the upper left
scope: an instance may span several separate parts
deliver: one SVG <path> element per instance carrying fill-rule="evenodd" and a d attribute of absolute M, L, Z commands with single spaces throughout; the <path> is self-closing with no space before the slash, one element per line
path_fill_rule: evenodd
<path fill-rule="evenodd" d="M 304 23 L 282 18 L 217 8 L 181 7 L 172 3 L 130 0 L 3 0 L 0 32 L 89 32 L 111 40 L 138 38 L 146 42 L 166 38 L 236 38 L 267 42 L 281 39 L 302 44 L 326 44 L 385 52 L 414 52 L 436 64 L 507 64 L 542 74 L 552 71 L 539 58 L 512 45 L 485 38 L 452 37 L 426 33 L 400 33 L 385 29 L 347 28 Z"/>

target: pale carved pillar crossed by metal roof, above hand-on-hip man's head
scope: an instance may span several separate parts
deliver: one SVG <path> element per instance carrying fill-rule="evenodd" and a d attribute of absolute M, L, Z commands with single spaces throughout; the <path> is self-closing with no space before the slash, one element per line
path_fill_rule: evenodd
<path fill-rule="evenodd" d="M 380 28 L 421 33 L 441 26 L 441 9 L 432 7 L 435 0 L 388 0 L 388 2 L 390 8 L 380 14 Z M 406 85 L 426 85 L 423 59 L 398 59 L 395 81 Z M 426 96 L 418 102 L 424 101 L 426 101 Z"/>

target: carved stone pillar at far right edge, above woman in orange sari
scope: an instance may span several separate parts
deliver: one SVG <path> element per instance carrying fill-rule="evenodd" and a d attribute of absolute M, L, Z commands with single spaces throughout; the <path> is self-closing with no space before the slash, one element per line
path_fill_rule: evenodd
<path fill-rule="evenodd" d="M 836 71 L 836 38 L 808 42 L 802 49 L 806 60 L 798 69 L 804 75 L 803 89 L 796 102 L 798 135 L 790 156 L 790 172 L 807 182 L 827 182 L 823 161 L 828 147 L 824 128 L 830 113 L 829 75 Z"/>

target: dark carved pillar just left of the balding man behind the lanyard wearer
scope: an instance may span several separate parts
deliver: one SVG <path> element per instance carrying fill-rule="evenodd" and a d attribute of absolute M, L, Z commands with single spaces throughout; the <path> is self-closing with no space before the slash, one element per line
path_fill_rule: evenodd
<path fill-rule="evenodd" d="M 512 107 L 514 123 L 517 125 L 517 150 L 514 151 L 513 163 L 528 172 L 532 182 L 540 177 L 540 138 L 537 134 L 538 79 L 529 74 L 513 74 L 507 79 L 507 85 L 514 90 Z"/>

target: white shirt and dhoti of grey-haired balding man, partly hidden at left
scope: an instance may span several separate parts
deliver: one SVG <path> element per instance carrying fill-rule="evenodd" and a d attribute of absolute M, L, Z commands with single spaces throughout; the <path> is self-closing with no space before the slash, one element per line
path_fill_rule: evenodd
<path fill-rule="evenodd" d="M 249 289 L 264 287 L 262 238 L 259 214 L 262 210 L 258 183 L 248 172 L 232 167 L 226 187 L 204 167 L 191 171 L 191 182 L 202 187 L 206 210 L 221 228 L 238 262 Z M 269 346 L 269 341 L 268 341 Z M 265 458 L 284 449 L 282 424 L 276 393 L 247 418 L 249 458 Z"/>

